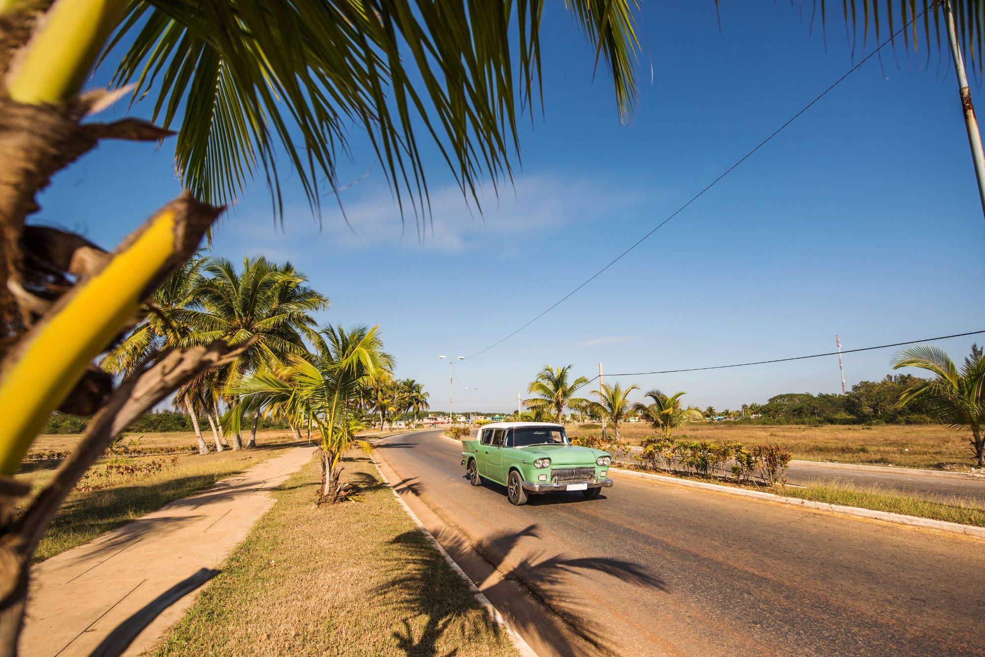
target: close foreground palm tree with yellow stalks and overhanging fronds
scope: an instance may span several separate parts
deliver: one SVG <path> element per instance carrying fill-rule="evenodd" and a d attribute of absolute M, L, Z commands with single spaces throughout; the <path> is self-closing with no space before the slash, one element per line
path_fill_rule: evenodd
<path fill-rule="evenodd" d="M 10 356 L 0 372 L 8 427 L 0 476 L 16 473 L 53 410 L 83 401 L 102 405 L 92 387 L 77 386 L 89 364 L 160 281 L 197 250 L 222 211 L 214 206 L 250 188 L 259 169 L 279 213 L 279 180 L 286 171 L 300 179 L 317 211 L 323 193 L 340 187 L 337 157 L 348 154 L 348 132 L 355 127 L 368 136 L 402 214 L 427 215 L 422 153 L 428 148 L 419 135 L 436 142 L 463 195 L 478 201 L 481 179 L 495 184 L 509 178 L 521 108 L 532 105 L 540 89 L 542 5 L 498 0 L 482 3 L 481 12 L 476 6 L 440 3 L 434 11 L 433 3 L 420 0 L 166 7 L 141 0 L 0 0 L 0 96 L 5 117 L 17 117 L 5 123 L 9 148 L 0 163 L 0 356 Z M 620 115 L 627 118 L 636 95 L 635 7 L 629 0 L 565 6 L 596 61 L 612 73 Z M 167 126 L 181 117 L 175 161 L 185 191 L 112 254 L 99 254 L 77 235 L 48 230 L 35 231 L 31 248 L 66 257 L 26 257 L 34 197 L 55 173 L 101 140 L 156 143 L 171 134 L 135 119 L 84 122 L 115 97 L 81 93 L 100 53 L 107 53 L 107 65 L 118 65 L 116 85 L 136 83 L 134 98 L 154 108 L 152 120 Z M 80 258 L 69 258 L 71 252 Z M 73 288 L 85 293 L 65 294 Z M 64 303 L 51 303 L 59 298 Z M 38 315 L 42 321 L 35 323 Z M 38 329 L 29 332 L 32 325 Z M 68 333 L 72 339 L 66 340 Z M 218 360 L 204 354 L 223 348 L 182 352 L 196 359 L 194 368 L 204 369 Z M 185 370 L 188 378 L 194 368 Z M 25 386 L 26 379 L 33 385 Z M 141 405 L 153 407 L 184 383 L 173 381 Z M 138 411 L 135 405 L 127 409 L 128 416 Z M 109 440 L 103 433 L 81 446 L 80 462 L 98 457 Z M 32 528 L 50 522 L 51 508 L 67 495 L 61 491 L 73 483 L 58 481 L 60 492 L 45 499 L 44 517 L 29 515 L 40 518 Z M 14 504 L 3 495 L 4 508 Z M 0 587 L 12 592 L 0 599 L 0 647 L 7 651 L 17 643 L 35 542 L 18 543 L 16 562 L 13 553 L 4 553 L 5 563 L 16 564 L 5 570 Z"/>

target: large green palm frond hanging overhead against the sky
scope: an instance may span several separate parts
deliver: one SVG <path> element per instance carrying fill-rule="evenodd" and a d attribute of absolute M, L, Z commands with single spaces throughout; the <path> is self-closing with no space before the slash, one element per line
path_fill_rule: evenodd
<path fill-rule="evenodd" d="M 566 6 L 612 73 L 626 119 L 635 2 Z M 402 213 L 409 204 L 420 217 L 421 135 L 477 204 L 480 178 L 511 176 L 517 119 L 540 88 L 541 12 L 526 0 L 134 2 L 111 44 L 128 44 L 114 82 L 136 83 L 134 99 L 150 96 L 164 126 L 181 122 L 175 160 L 203 201 L 230 202 L 262 169 L 283 213 L 281 151 L 320 210 L 323 188 L 339 187 L 336 162 L 353 125 Z"/>

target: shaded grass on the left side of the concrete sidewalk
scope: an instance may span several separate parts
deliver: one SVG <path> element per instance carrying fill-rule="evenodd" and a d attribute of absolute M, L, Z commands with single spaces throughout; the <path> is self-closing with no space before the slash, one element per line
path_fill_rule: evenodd
<path fill-rule="evenodd" d="M 42 562 L 99 534 L 115 529 L 141 515 L 187 498 L 220 479 L 283 454 L 284 448 L 244 449 L 206 455 L 181 456 L 178 464 L 98 491 L 74 492 L 58 509 L 51 526 L 41 537 L 34 561 Z M 26 464 L 19 479 L 31 481 L 35 490 L 50 479 L 58 463 Z"/>

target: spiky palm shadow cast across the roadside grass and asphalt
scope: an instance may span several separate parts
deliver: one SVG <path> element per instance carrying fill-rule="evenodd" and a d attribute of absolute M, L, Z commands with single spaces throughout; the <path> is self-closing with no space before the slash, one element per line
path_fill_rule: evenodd
<path fill-rule="evenodd" d="M 631 585 L 652 587 L 666 591 L 664 581 L 652 574 L 646 567 L 632 562 L 609 557 L 577 557 L 545 555 L 532 553 L 518 544 L 527 539 L 541 538 L 536 524 L 530 524 L 518 532 L 500 531 L 484 538 L 477 545 L 467 544 L 460 535 L 451 531 L 439 532 L 438 542 L 452 555 L 462 552 L 478 552 L 483 559 L 499 573 L 490 577 L 495 581 L 484 586 L 487 596 L 496 599 L 510 599 L 517 596 L 517 584 L 526 589 L 535 600 L 548 607 L 555 618 L 550 622 L 563 624 L 569 631 L 586 641 L 594 649 L 605 649 L 607 627 L 590 615 L 591 606 L 579 604 L 584 596 L 579 595 L 579 586 L 589 582 L 584 578 L 593 573 L 602 573 L 618 581 Z M 424 540 L 424 543 L 422 543 Z M 404 590 L 408 595 L 401 609 L 408 614 L 404 620 L 404 632 L 394 634 L 398 645 L 408 655 L 436 656 L 441 635 L 454 620 L 471 609 L 478 609 L 470 593 L 471 601 L 463 605 L 462 596 L 442 594 L 442 589 L 454 587 L 454 581 L 461 578 L 447 567 L 443 558 L 433 551 L 425 535 L 420 531 L 401 534 L 392 543 L 401 548 L 404 559 L 411 561 L 412 567 L 396 572 L 382 590 Z M 522 594 L 522 593 L 521 593 Z M 451 601 L 456 601 L 452 604 Z M 456 606 L 457 605 L 457 606 Z M 526 608 L 525 608 L 526 609 Z M 522 634 L 539 634 L 544 631 L 544 619 L 531 618 L 526 614 L 511 614 L 511 623 Z M 424 619 L 423 627 L 421 619 Z M 492 619 L 486 617 L 485 623 L 495 628 Z M 420 627 L 415 631 L 415 627 Z M 475 626 L 473 626 L 475 627 Z M 588 654 L 584 645 L 558 645 L 564 642 L 564 632 L 553 631 L 552 639 L 561 654 Z M 454 654 L 454 651 L 445 653 Z"/>

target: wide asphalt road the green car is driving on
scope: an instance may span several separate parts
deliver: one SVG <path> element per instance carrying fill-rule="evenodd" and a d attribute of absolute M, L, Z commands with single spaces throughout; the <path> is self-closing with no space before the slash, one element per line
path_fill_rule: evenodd
<path fill-rule="evenodd" d="M 501 486 L 469 486 L 440 432 L 376 454 L 509 583 L 493 604 L 529 594 L 576 635 L 542 655 L 985 654 L 979 539 L 618 474 L 594 500 L 512 507 Z M 536 644 L 530 609 L 507 617 Z"/>

